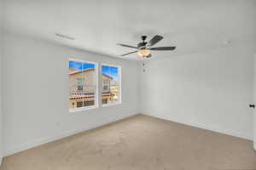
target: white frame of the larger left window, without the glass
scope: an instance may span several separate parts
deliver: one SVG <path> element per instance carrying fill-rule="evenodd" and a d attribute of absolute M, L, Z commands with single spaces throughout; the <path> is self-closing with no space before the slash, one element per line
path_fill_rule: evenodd
<path fill-rule="evenodd" d="M 95 105 L 91 105 L 91 106 L 87 106 L 87 107 L 79 107 L 76 109 L 69 109 L 69 112 L 78 112 L 78 111 L 86 111 L 86 110 L 90 110 L 90 109 L 96 109 L 99 107 L 99 86 L 98 86 L 98 72 L 99 72 L 99 65 L 97 62 L 94 61 L 88 61 L 88 60 L 84 60 L 84 59 L 73 59 L 73 58 L 69 58 L 68 59 L 68 65 L 67 65 L 67 71 L 69 68 L 69 61 L 78 61 L 78 62 L 84 62 L 84 63 L 90 63 L 95 65 L 95 83 L 96 83 L 96 92 L 95 92 Z M 68 74 L 67 74 L 68 76 Z M 68 91 L 69 91 L 69 87 L 68 87 Z M 69 94 L 68 94 L 68 99 L 69 99 Z M 68 101 L 69 102 L 69 101 Z"/>

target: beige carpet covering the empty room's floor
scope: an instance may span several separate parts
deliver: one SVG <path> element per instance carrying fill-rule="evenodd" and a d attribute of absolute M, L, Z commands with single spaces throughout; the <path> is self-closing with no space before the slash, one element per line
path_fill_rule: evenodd
<path fill-rule="evenodd" d="M 8 156 L 1 170 L 250 170 L 252 141 L 137 115 Z"/>

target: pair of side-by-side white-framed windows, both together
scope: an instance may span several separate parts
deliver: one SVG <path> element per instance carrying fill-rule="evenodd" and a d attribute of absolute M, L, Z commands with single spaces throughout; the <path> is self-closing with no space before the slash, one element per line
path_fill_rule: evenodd
<path fill-rule="evenodd" d="M 98 105 L 97 64 L 79 59 L 68 60 L 69 110 L 84 111 Z M 102 106 L 121 103 L 121 68 L 101 65 Z"/>

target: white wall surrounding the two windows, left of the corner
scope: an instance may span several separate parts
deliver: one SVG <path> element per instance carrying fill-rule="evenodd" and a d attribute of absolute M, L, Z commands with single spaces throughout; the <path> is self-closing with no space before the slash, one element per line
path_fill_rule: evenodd
<path fill-rule="evenodd" d="M 5 155 L 137 114 L 137 62 L 9 33 L 4 38 Z M 121 65 L 122 104 L 69 113 L 68 58 Z"/>

